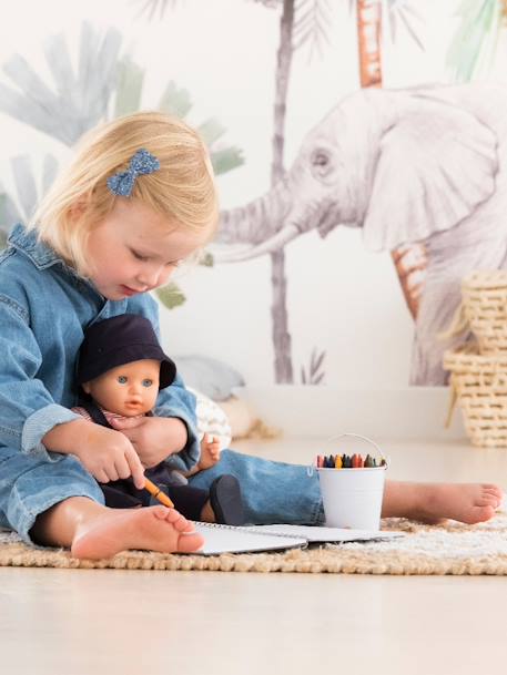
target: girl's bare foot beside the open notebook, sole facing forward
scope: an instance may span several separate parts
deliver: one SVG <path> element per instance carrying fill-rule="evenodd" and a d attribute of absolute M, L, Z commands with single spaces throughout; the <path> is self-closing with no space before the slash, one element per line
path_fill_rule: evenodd
<path fill-rule="evenodd" d="M 111 558 L 120 551 L 141 549 L 161 553 L 191 553 L 204 543 L 193 524 L 174 509 L 107 509 L 75 529 L 74 558 Z"/>

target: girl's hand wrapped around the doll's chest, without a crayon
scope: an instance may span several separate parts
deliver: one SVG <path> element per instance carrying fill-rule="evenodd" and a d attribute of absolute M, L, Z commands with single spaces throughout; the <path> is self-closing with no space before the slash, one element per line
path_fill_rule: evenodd
<path fill-rule="evenodd" d="M 132 442 L 145 469 L 186 446 L 186 427 L 176 417 L 113 418 L 111 425 Z"/>

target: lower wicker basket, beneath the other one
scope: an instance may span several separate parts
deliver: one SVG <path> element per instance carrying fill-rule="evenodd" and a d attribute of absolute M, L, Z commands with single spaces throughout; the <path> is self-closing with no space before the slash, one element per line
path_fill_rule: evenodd
<path fill-rule="evenodd" d="M 477 347 L 462 347 L 444 355 L 450 371 L 453 399 L 463 410 L 465 429 L 474 446 L 507 448 L 507 354 L 484 356 Z"/>

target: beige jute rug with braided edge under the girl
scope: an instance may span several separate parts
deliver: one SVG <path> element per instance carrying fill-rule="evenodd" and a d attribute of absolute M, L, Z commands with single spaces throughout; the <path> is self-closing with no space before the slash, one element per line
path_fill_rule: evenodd
<path fill-rule="evenodd" d="M 60 549 L 23 544 L 0 532 L 0 566 L 116 570 L 207 570 L 222 572 L 327 572 L 333 574 L 507 574 L 507 514 L 479 525 L 448 521 L 423 525 L 387 519 L 383 529 L 406 536 L 375 543 L 326 544 L 282 553 L 212 558 L 128 551 L 100 561 L 77 560 Z"/>

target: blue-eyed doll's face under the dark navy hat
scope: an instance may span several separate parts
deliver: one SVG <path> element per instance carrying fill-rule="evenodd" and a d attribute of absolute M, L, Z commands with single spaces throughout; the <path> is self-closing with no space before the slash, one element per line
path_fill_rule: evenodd
<path fill-rule="evenodd" d="M 142 359 L 111 368 L 83 389 L 105 410 L 134 417 L 154 408 L 159 396 L 160 361 Z"/>

